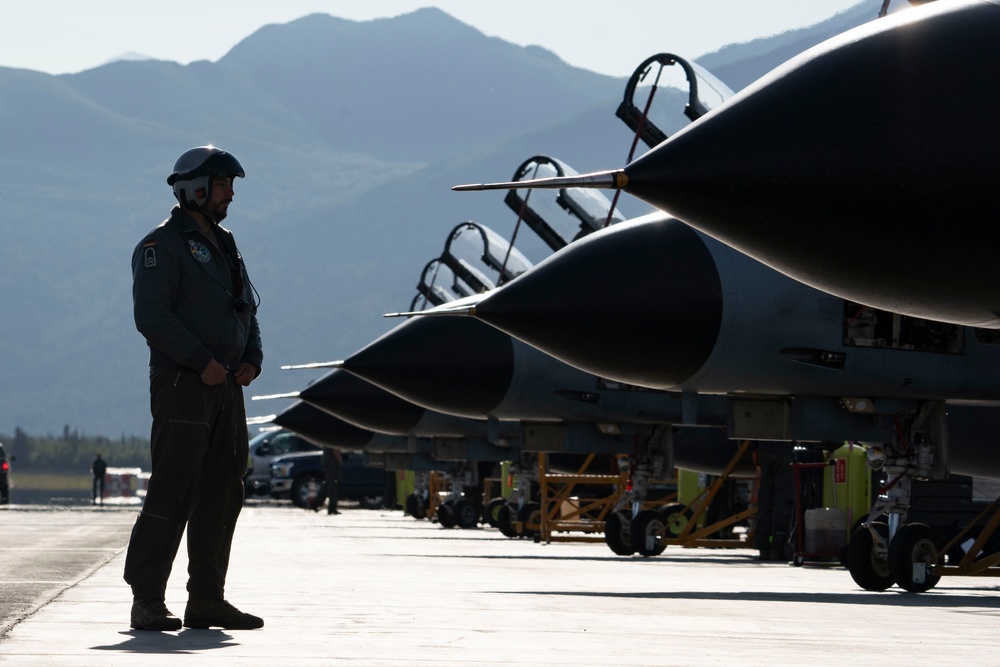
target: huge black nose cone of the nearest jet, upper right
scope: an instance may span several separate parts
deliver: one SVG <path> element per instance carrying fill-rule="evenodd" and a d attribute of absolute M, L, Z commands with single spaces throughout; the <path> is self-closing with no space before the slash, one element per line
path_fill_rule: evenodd
<path fill-rule="evenodd" d="M 1000 325 L 998 43 L 996 2 L 872 21 L 632 162 L 625 189 L 838 296 Z"/>

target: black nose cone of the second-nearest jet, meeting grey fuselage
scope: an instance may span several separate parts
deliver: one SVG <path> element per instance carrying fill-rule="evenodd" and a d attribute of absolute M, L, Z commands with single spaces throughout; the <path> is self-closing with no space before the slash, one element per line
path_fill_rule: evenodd
<path fill-rule="evenodd" d="M 712 353 L 722 287 L 697 232 L 650 216 L 560 250 L 492 292 L 476 317 L 588 373 L 669 389 Z"/>

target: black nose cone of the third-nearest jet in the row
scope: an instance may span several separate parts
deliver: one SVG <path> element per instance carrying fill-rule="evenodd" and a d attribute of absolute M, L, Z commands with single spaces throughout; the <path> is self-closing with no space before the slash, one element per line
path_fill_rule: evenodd
<path fill-rule="evenodd" d="M 466 317 L 413 317 L 344 360 L 343 368 L 431 410 L 482 418 L 514 372 L 510 336 Z"/>

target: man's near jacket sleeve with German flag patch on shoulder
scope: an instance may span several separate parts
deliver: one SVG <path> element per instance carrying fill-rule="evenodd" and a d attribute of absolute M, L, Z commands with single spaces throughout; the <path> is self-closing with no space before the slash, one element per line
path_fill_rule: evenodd
<path fill-rule="evenodd" d="M 212 353 L 173 312 L 180 270 L 177 257 L 155 235 L 132 253 L 132 304 L 135 326 L 153 347 L 178 365 L 201 372 Z"/>

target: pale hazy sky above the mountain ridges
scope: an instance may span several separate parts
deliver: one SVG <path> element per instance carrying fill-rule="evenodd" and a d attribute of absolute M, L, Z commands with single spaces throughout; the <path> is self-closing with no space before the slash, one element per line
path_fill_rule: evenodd
<path fill-rule="evenodd" d="M 812 25 L 881 0 L 32 0 L 4 4 L 0 66 L 63 74 L 129 52 L 217 60 L 258 28 L 323 12 L 352 20 L 436 6 L 490 36 L 540 44 L 571 65 L 628 76 L 663 51 L 697 57 L 724 44 Z M 905 4 L 894 0 L 894 4 Z M 610 9 L 610 8 L 613 8 Z"/>

